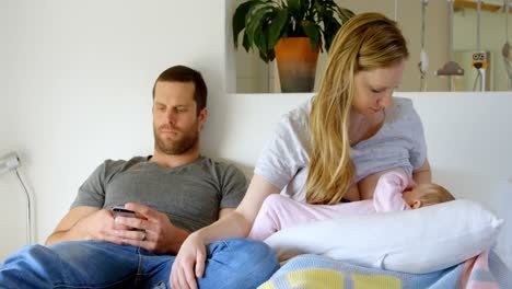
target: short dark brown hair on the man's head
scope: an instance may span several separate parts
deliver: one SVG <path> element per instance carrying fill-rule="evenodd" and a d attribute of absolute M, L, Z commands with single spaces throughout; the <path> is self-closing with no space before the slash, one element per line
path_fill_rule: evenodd
<path fill-rule="evenodd" d="M 194 83 L 194 101 L 197 104 L 197 115 L 206 107 L 208 89 L 205 80 L 199 71 L 194 70 L 186 66 L 173 66 L 160 73 L 159 78 L 153 84 L 153 100 L 156 83 L 161 81 L 166 82 L 193 82 Z"/>

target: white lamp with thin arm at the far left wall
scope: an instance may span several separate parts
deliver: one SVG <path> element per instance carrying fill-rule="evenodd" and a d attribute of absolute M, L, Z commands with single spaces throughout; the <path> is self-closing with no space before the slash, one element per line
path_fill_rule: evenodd
<path fill-rule="evenodd" d="M 0 175 L 7 172 L 15 172 L 18 180 L 20 181 L 23 190 L 25 192 L 26 195 L 26 241 L 28 244 L 35 243 L 34 240 L 34 222 L 33 222 L 33 216 L 34 216 L 34 196 L 31 194 L 31 192 L 27 189 L 25 182 L 23 181 L 23 177 L 21 176 L 20 172 L 18 171 L 18 167 L 20 167 L 20 158 L 15 152 L 10 152 L 2 158 L 0 158 Z"/>

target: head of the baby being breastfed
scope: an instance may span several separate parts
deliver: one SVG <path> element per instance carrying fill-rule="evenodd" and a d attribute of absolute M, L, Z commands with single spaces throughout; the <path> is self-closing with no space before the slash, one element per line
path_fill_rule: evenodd
<path fill-rule="evenodd" d="M 407 189 L 404 192 L 403 197 L 412 209 L 455 199 L 446 188 L 433 183 L 420 184 L 411 189 Z"/>

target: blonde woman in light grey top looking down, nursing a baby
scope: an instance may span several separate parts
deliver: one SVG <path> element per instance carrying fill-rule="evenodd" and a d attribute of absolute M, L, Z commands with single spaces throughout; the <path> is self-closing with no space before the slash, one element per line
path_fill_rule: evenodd
<path fill-rule="evenodd" d="M 270 194 L 287 187 L 309 204 L 368 199 L 376 172 L 402 167 L 430 183 L 421 122 L 408 100 L 394 100 L 408 57 L 396 23 L 379 13 L 349 20 L 336 35 L 318 94 L 290 112 L 263 150 L 235 212 L 188 236 L 172 268 L 172 288 L 197 288 L 206 245 L 246 236 Z M 357 187 L 362 177 L 374 182 Z"/>

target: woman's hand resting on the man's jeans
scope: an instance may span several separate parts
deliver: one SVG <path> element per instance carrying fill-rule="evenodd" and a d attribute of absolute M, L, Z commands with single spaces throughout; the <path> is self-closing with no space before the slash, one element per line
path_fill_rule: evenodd
<path fill-rule="evenodd" d="M 207 252 L 199 232 L 190 234 L 182 245 L 171 270 L 171 288 L 197 289 L 196 278 L 205 273 Z"/>

